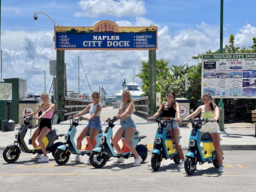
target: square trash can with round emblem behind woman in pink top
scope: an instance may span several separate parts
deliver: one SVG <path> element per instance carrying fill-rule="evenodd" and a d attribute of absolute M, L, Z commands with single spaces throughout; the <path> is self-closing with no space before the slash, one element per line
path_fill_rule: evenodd
<path fill-rule="evenodd" d="M 22 99 L 19 101 L 19 117 L 28 115 L 35 112 L 38 109 L 38 100 L 37 99 Z M 35 116 L 38 116 L 36 114 Z M 20 119 L 20 126 L 24 124 L 24 120 Z M 32 127 L 38 125 L 38 120 L 32 121 Z"/>

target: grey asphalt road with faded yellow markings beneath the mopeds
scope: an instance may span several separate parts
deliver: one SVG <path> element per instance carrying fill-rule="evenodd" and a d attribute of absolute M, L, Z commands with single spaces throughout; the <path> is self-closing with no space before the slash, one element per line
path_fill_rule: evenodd
<path fill-rule="evenodd" d="M 183 151 L 184 153 L 186 151 Z M 144 163 L 133 167 L 133 158 L 114 164 L 110 158 L 99 169 L 81 163 L 56 164 L 52 155 L 47 163 L 30 160 L 21 153 L 13 164 L 6 163 L 0 150 L 0 189 L 5 191 L 256 191 L 255 151 L 224 151 L 225 172 L 218 173 L 212 164 L 197 165 L 188 176 L 170 159 L 163 160 L 158 171 Z M 73 155 L 71 156 L 73 157 Z M 254 158 L 253 158 L 254 157 Z M 71 159 L 71 158 L 70 158 Z"/>

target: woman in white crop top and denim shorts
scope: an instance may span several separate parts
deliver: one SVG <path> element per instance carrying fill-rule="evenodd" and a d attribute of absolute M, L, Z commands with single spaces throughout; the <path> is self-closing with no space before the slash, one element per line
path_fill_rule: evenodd
<path fill-rule="evenodd" d="M 80 135 L 77 137 L 77 149 L 81 149 L 82 147 L 82 140 L 86 137 L 86 133 L 88 130 L 90 130 L 90 150 L 92 152 L 92 149 L 95 148 L 94 145 L 94 139 L 101 130 L 101 121 L 100 121 L 100 115 L 101 115 L 101 105 L 100 102 L 100 94 L 99 92 L 95 91 L 92 93 L 92 101 L 93 103 L 89 104 L 83 111 L 77 113 L 73 117 L 79 117 L 82 116 L 84 113 L 89 111 L 89 114 L 91 115 L 89 118 L 84 117 L 84 120 L 89 121 L 88 125 L 83 128 L 83 131 L 80 133 Z M 70 118 L 71 116 L 69 116 Z M 80 162 L 80 155 L 76 155 L 74 159 L 71 159 L 71 162 Z M 87 161 L 83 162 L 83 164 L 90 164 L 89 158 Z"/>

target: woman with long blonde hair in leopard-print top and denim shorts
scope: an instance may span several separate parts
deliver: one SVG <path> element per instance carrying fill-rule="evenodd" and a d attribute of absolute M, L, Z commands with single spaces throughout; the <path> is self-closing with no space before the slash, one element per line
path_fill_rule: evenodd
<path fill-rule="evenodd" d="M 120 146 L 117 144 L 117 142 L 121 139 L 122 133 L 125 131 L 125 145 L 131 150 L 135 157 L 135 162 L 132 164 L 133 166 L 138 166 L 142 159 L 138 155 L 136 149 L 134 146 L 130 143 L 132 137 L 134 136 L 134 133 L 136 132 L 136 125 L 134 121 L 131 119 L 131 114 L 134 112 L 134 104 L 131 99 L 131 93 L 128 90 L 123 91 L 122 93 L 122 104 L 119 108 L 118 114 L 116 115 L 116 118 L 121 118 L 120 125 L 121 128 L 119 128 L 116 131 L 115 136 L 113 137 L 112 143 L 116 149 L 117 152 L 121 151 Z M 124 162 L 125 159 L 123 157 L 120 157 L 113 161 L 113 163 L 121 163 Z"/>

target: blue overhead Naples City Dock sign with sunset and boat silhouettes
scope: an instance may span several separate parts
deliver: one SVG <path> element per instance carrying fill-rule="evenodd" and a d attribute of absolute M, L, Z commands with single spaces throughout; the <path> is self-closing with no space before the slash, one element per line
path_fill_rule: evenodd
<path fill-rule="evenodd" d="M 93 27 L 55 27 L 59 50 L 154 50 L 157 27 L 119 27 L 108 20 Z"/>

